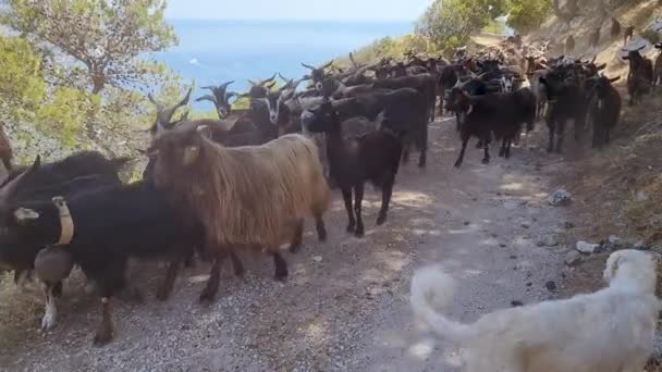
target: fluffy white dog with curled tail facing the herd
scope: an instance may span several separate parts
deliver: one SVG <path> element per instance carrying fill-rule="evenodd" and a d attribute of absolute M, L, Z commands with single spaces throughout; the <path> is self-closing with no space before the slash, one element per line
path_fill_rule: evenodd
<path fill-rule="evenodd" d="M 463 348 L 468 372 L 641 372 L 661 309 L 657 261 L 650 252 L 616 251 L 604 269 L 609 287 L 498 310 L 473 324 L 433 309 L 453 298 L 453 278 L 439 266 L 416 272 L 410 301 L 417 317 Z"/>

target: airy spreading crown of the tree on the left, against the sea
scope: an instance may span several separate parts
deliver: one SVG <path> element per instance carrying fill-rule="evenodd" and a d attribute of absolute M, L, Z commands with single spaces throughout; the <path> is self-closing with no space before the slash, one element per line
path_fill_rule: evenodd
<path fill-rule="evenodd" d="M 10 10 L 0 22 L 56 48 L 83 67 L 93 94 L 107 85 L 139 84 L 149 69 L 139 60 L 145 52 L 163 50 L 177 42 L 164 23 L 161 0 L 9 0 Z"/>

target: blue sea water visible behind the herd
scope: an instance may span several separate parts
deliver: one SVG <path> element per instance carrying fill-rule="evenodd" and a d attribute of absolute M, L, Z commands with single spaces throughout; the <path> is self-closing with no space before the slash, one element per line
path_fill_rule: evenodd
<path fill-rule="evenodd" d="M 346 55 L 371 41 L 410 33 L 410 23 L 304 21 L 171 20 L 180 45 L 157 59 L 196 86 L 236 80 L 230 89 L 244 91 L 246 79 L 306 73 L 301 62 L 318 65 Z M 200 95 L 201 91 L 196 91 Z M 206 108 L 209 103 L 197 103 Z"/>

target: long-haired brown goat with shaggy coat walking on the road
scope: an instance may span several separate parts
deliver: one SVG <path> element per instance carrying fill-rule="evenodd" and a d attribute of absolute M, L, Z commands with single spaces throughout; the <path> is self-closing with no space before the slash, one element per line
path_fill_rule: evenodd
<path fill-rule="evenodd" d="M 205 226 L 213 265 L 200 300 L 218 292 L 220 266 L 233 247 L 263 248 L 273 257 L 275 277 L 284 278 L 287 264 L 280 245 L 301 241 L 309 215 L 319 239 L 326 239 L 322 214 L 331 197 L 310 139 L 293 134 L 262 146 L 226 148 L 206 132 L 184 123 L 152 146 L 157 186 Z"/>

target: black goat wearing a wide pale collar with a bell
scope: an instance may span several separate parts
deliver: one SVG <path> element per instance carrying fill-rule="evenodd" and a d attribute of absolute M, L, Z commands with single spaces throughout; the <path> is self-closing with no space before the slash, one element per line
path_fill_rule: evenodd
<path fill-rule="evenodd" d="M 21 246 L 63 244 L 62 249 L 98 285 L 102 322 L 95 344 L 107 343 L 113 333 L 110 301 L 126 286 L 127 259 L 173 258 L 179 262 L 189 253 L 187 247 L 203 247 L 204 234 L 185 227 L 166 196 L 149 182 L 101 187 L 74 195 L 66 203 L 14 200 L 13 191 L 38 168 L 37 158 L 24 175 L 7 186 L 9 195 L 0 211 L 0 247 L 4 255 L 21 255 Z M 61 241 L 66 226 L 71 227 L 69 241 Z M 171 266 L 166 282 L 174 281 L 175 274 L 176 266 Z M 170 290 L 172 283 L 161 288 Z"/>

